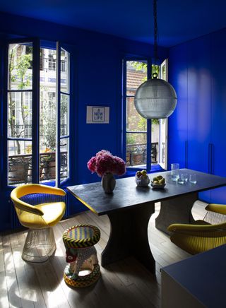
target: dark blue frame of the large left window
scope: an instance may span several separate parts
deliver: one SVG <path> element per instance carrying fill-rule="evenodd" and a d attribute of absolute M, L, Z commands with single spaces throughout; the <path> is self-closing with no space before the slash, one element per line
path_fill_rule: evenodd
<path fill-rule="evenodd" d="M 10 39 L 6 40 L 3 44 L 2 50 L 2 59 L 4 62 L 3 70 L 2 70 L 2 76 L 3 76 L 3 93 L 1 95 L 2 97 L 2 114 L 4 121 L 1 124 L 1 131 L 2 131 L 2 155 L 3 161 L 7 162 L 2 164 L 2 172 L 3 177 L 1 178 L 1 186 L 5 188 L 12 189 L 14 186 L 17 186 L 18 184 L 8 184 L 8 140 L 10 139 L 8 137 L 8 93 L 10 90 L 8 89 L 8 46 L 11 44 L 25 44 L 25 43 L 32 43 L 32 90 L 30 92 L 32 93 L 32 183 L 40 183 L 40 70 L 42 69 L 40 67 L 40 50 L 43 46 L 41 46 L 41 43 L 45 41 L 42 41 L 38 38 L 30 38 L 30 37 L 21 37 L 19 39 Z M 57 42 L 52 42 L 57 49 Z M 46 48 L 49 48 L 48 46 Z M 63 47 L 69 54 L 71 54 L 70 50 L 67 49 L 67 47 Z M 59 59 L 60 62 L 60 59 Z M 69 63 L 69 87 L 71 89 L 71 69 L 70 69 L 71 63 Z M 23 90 L 22 90 L 23 91 Z M 57 93 L 56 93 L 57 94 Z M 69 94 L 71 96 L 71 93 Z M 71 99 L 69 100 L 69 127 L 71 122 L 71 114 L 70 114 L 70 105 L 71 105 Z M 57 107 L 59 109 L 59 107 Z M 60 127 L 60 122 L 58 122 L 57 127 Z M 71 138 L 70 131 L 68 134 L 68 138 Z M 27 140 L 27 138 L 20 138 L 20 141 Z M 68 156 L 71 156 L 71 141 L 69 143 L 69 154 Z M 57 155 L 57 148 L 56 148 L 56 155 Z M 71 170 L 71 167 L 69 166 L 69 170 Z M 56 168 L 57 171 L 57 168 Z M 54 184 L 61 184 L 61 186 L 66 186 L 66 182 L 69 182 L 70 180 L 70 174 L 69 176 L 64 179 L 61 183 L 57 182 L 57 173 L 56 173 L 56 180 L 50 180 L 47 182 L 42 182 L 42 184 L 47 184 L 50 186 L 54 186 Z"/>

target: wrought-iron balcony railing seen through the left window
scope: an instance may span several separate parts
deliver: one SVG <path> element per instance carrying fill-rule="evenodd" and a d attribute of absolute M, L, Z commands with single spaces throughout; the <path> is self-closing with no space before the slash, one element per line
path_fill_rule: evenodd
<path fill-rule="evenodd" d="M 67 152 L 60 155 L 60 177 L 67 177 Z M 49 181 L 56 178 L 55 152 L 40 154 L 40 181 Z M 8 157 L 8 184 L 22 184 L 32 182 L 32 155 L 11 155 Z"/>

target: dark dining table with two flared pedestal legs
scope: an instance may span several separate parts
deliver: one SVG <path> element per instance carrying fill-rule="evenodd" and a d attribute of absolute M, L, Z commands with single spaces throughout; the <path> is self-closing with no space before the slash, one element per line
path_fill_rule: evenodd
<path fill-rule="evenodd" d="M 199 192 L 226 185 L 225 177 L 189 169 L 179 172 L 188 176 L 184 184 L 173 180 L 171 171 L 148 174 L 150 181 L 162 175 L 166 182 L 163 189 L 154 189 L 150 184 L 137 186 L 135 177 L 116 179 L 112 194 L 105 194 L 100 182 L 67 187 L 93 213 L 109 218 L 110 234 L 102 251 L 102 266 L 134 256 L 148 271 L 155 273 L 155 259 L 148 242 L 148 223 L 155 213 L 155 203 L 161 203 L 155 227 L 168 234 L 167 227 L 172 223 L 194 222 L 191 208 Z M 196 174 L 195 184 L 189 182 L 190 174 Z"/>

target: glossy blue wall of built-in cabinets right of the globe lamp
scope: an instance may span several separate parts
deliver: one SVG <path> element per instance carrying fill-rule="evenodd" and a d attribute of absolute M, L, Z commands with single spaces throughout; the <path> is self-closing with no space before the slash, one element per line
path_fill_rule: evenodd
<path fill-rule="evenodd" d="M 169 81 L 178 95 L 169 117 L 168 163 L 226 177 L 226 29 L 169 49 Z M 200 195 L 226 203 L 225 188 Z"/>

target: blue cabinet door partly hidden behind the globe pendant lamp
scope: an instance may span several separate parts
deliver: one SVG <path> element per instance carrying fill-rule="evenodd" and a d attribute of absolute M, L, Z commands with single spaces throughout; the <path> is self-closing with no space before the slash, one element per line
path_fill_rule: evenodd
<path fill-rule="evenodd" d="M 172 162 L 186 166 L 187 141 L 187 70 L 186 45 L 173 47 L 169 52 L 169 83 L 177 93 L 177 107 L 168 121 L 168 170 Z"/>

